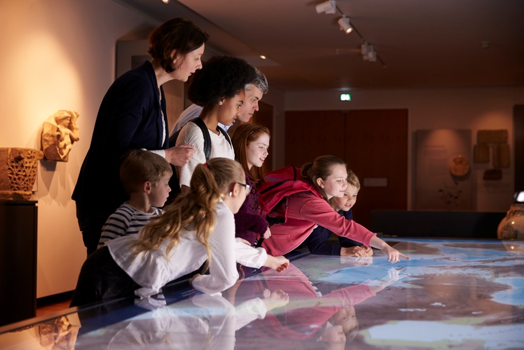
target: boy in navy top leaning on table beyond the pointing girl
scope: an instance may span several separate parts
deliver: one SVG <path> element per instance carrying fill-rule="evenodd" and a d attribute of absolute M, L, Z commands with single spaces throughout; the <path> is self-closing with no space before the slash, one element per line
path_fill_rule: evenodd
<path fill-rule="evenodd" d="M 351 170 L 347 171 L 347 187 L 344 190 L 343 197 L 332 197 L 329 200 L 331 206 L 341 216 L 347 220 L 353 220 L 352 208 L 357 201 L 358 191 L 360 189 L 360 182 L 358 177 Z M 373 249 L 364 247 L 360 242 L 342 236 L 339 238 L 340 246 L 328 245 L 326 240 L 335 235 L 333 231 L 318 226 L 311 235 L 300 245 L 297 249 L 308 247 L 312 254 L 318 255 L 340 255 L 340 256 L 355 256 L 355 257 L 370 257 L 373 255 Z"/>

